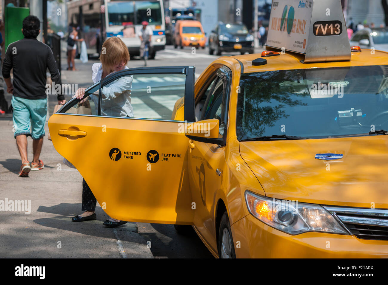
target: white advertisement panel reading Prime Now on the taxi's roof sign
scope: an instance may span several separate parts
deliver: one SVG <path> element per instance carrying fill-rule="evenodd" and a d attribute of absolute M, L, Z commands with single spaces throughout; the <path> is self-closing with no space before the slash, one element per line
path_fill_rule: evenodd
<path fill-rule="evenodd" d="M 267 46 L 306 54 L 313 0 L 273 0 Z"/>

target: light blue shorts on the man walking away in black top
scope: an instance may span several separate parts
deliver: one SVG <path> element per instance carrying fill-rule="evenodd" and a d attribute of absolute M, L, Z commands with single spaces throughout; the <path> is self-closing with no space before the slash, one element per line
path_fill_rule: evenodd
<path fill-rule="evenodd" d="M 11 102 L 14 108 L 12 120 L 14 121 L 15 138 L 19 135 L 31 136 L 34 140 L 43 138 L 45 135 L 47 98 L 31 100 L 12 96 Z"/>

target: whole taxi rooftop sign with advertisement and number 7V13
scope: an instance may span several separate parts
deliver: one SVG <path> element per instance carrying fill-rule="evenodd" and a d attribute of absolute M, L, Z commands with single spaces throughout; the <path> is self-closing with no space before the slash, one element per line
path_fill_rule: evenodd
<path fill-rule="evenodd" d="M 268 49 L 304 54 L 303 62 L 350 60 L 340 0 L 272 0 Z"/>

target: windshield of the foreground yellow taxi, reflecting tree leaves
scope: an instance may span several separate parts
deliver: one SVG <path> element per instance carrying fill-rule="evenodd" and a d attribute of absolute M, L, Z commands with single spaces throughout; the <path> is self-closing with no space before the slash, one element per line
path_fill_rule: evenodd
<path fill-rule="evenodd" d="M 303 138 L 388 130 L 388 66 L 241 74 L 237 138 Z"/>

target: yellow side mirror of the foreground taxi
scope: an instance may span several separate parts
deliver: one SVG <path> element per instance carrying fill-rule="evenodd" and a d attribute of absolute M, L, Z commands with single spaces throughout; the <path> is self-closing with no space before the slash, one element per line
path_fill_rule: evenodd
<path fill-rule="evenodd" d="M 220 131 L 220 121 L 218 119 L 208 119 L 184 124 L 185 135 L 196 138 L 218 138 Z"/>

